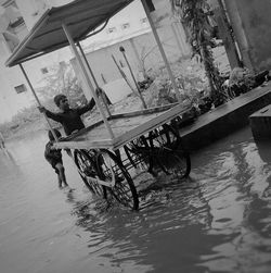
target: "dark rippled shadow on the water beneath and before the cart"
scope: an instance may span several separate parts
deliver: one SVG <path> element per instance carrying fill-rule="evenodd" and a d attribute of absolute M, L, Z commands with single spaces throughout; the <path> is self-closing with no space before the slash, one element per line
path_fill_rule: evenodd
<path fill-rule="evenodd" d="M 117 203 L 78 201 L 74 193 L 67 194 L 76 224 L 90 234 L 89 255 L 127 272 L 203 272 L 207 266 L 201 265 L 201 257 L 214 255 L 212 247 L 235 236 L 208 235 L 210 207 L 193 178 L 151 195 L 151 206 L 131 212 Z"/>

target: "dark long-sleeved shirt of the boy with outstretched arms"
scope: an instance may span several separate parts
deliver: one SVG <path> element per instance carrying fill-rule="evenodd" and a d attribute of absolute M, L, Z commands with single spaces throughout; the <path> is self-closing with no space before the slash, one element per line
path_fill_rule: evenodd
<path fill-rule="evenodd" d="M 91 101 L 85 107 L 77 109 L 68 109 L 60 113 L 53 113 L 49 110 L 46 110 L 46 115 L 56 122 L 60 122 L 63 125 L 65 134 L 68 136 L 76 129 L 85 128 L 80 115 L 90 111 L 94 106 L 95 101 L 91 99 Z"/>

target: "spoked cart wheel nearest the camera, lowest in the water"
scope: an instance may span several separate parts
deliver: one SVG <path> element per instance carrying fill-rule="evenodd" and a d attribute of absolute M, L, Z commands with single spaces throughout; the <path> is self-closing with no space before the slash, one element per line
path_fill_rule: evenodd
<path fill-rule="evenodd" d="M 96 157 L 96 164 L 100 179 L 113 184 L 111 189 L 116 200 L 132 210 L 138 210 L 138 193 L 121 161 L 113 152 L 101 150 Z"/>

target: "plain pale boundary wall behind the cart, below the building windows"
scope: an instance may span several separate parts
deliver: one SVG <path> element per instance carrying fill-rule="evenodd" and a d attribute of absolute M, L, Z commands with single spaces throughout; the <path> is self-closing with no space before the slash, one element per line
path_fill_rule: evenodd
<path fill-rule="evenodd" d="M 178 47 L 175 33 L 170 26 L 159 28 L 158 35 L 169 62 L 175 62 L 190 53 L 188 45 L 181 49 Z M 149 32 L 86 54 L 100 85 L 103 84 L 101 74 L 107 83 L 121 77 L 112 58 L 113 54 L 118 62 L 120 61 L 124 66 L 127 66 L 124 55 L 119 51 L 120 46 L 125 48 L 127 59 L 138 79 L 140 79 L 142 72 L 142 61 L 144 61 L 144 66 L 150 73 L 152 73 L 152 70 L 164 66 L 153 34 Z"/>

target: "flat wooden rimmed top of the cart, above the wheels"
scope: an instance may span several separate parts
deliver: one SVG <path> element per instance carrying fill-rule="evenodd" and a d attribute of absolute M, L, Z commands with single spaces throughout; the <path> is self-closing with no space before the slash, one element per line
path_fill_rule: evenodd
<path fill-rule="evenodd" d="M 59 149 L 112 149 L 121 148 L 127 142 L 144 135 L 177 116 L 182 115 L 190 107 L 175 103 L 164 107 L 144 109 L 134 112 L 112 115 L 108 123 L 114 139 L 109 139 L 103 121 L 96 122 L 55 144 Z"/>

